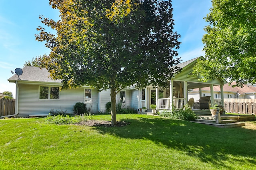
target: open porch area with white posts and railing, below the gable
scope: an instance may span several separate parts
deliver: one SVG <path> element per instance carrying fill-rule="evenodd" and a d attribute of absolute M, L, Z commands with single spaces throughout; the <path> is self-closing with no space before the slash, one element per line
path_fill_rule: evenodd
<path fill-rule="evenodd" d="M 169 88 L 153 88 L 153 87 L 147 87 L 145 89 L 142 89 L 142 95 L 140 98 L 140 108 L 146 107 L 147 109 L 150 109 L 151 104 L 156 105 L 156 109 L 161 110 L 171 110 L 174 109 L 182 109 L 184 105 L 188 104 L 188 101 L 190 98 L 188 98 L 188 93 L 194 89 L 199 88 L 200 97 L 202 96 L 202 90 L 203 87 L 210 87 L 211 93 L 210 93 L 210 106 L 213 106 L 215 104 L 218 105 L 224 105 L 223 104 L 223 84 L 213 84 L 213 83 L 203 83 L 203 82 L 187 82 L 182 80 L 170 80 Z M 214 90 L 213 86 L 220 85 L 221 88 L 221 98 L 220 99 L 214 99 Z M 194 101 L 192 104 L 192 109 L 198 112 L 205 112 L 200 109 L 200 103 L 199 101 Z M 208 107 L 209 109 L 209 107 Z"/>

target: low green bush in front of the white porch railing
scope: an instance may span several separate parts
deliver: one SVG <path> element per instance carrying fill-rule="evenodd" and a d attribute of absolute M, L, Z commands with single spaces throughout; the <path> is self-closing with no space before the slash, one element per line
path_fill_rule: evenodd
<path fill-rule="evenodd" d="M 162 113 L 159 113 L 161 117 L 170 117 L 171 119 L 180 119 L 180 120 L 186 120 L 186 121 L 194 121 L 197 116 L 194 113 L 194 111 L 191 110 L 191 107 L 187 104 L 184 106 L 183 109 L 175 110 L 172 109 L 171 112 L 164 111 Z"/>

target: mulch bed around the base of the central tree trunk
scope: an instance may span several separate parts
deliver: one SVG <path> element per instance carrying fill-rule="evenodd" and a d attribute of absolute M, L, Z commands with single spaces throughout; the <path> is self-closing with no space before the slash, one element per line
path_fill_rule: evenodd
<path fill-rule="evenodd" d="M 88 120 L 81 123 L 78 123 L 78 125 L 86 125 L 86 126 L 94 126 L 94 127 L 123 127 L 126 125 L 129 125 L 130 123 L 124 122 L 124 121 L 116 121 L 116 125 L 112 125 L 111 121 L 103 121 L 103 120 Z"/>

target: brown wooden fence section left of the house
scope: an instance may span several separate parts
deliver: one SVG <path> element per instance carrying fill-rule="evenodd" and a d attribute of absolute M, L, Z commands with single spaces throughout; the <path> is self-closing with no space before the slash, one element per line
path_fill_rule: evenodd
<path fill-rule="evenodd" d="M 15 99 L 0 100 L 0 117 L 15 114 Z"/>

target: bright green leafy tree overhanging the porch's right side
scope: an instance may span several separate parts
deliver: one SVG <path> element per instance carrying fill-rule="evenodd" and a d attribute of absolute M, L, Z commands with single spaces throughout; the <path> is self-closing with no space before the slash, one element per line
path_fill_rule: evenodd
<path fill-rule="evenodd" d="M 256 1 L 212 0 L 206 16 L 206 60 L 195 72 L 202 80 L 226 78 L 237 85 L 256 82 Z"/>

